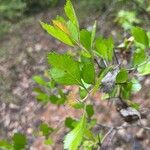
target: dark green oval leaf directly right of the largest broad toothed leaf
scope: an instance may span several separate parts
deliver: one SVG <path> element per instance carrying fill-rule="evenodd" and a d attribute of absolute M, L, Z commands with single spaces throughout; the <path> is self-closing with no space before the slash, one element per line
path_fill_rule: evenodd
<path fill-rule="evenodd" d="M 82 67 L 82 78 L 84 82 L 88 84 L 94 84 L 95 83 L 95 68 L 94 63 L 89 59 L 88 62 L 83 62 Z"/>

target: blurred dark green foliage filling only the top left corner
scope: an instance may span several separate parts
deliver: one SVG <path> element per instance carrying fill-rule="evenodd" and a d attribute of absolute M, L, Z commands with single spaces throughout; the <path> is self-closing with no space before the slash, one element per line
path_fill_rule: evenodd
<path fill-rule="evenodd" d="M 0 36 L 24 16 L 54 7 L 61 0 L 0 0 Z"/>

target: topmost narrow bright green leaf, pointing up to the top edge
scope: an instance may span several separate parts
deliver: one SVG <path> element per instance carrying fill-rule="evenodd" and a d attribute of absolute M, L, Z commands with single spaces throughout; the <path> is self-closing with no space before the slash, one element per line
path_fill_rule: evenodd
<path fill-rule="evenodd" d="M 66 16 L 70 19 L 70 21 L 77 26 L 77 28 L 79 28 L 79 23 L 78 23 L 78 19 L 77 16 L 75 14 L 73 5 L 71 3 L 70 0 L 67 0 L 66 5 L 64 7 Z"/>

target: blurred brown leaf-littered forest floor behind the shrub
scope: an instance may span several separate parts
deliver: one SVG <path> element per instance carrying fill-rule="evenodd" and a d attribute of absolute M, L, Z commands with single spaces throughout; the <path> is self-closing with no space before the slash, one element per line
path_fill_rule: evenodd
<path fill-rule="evenodd" d="M 62 7 L 58 7 L 57 10 L 55 8 L 49 12 L 30 16 L 13 26 L 11 32 L 0 39 L 0 138 L 10 138 L 15 132 L 23 132 L 29 139 L 29 149 L 33 150 L 62 149 L 66 130 L 60 129 L 54 136 L 56 144 L 51 148 L 46 147 L 42 144 L 43 137 L 39 137 L 36 133 L 42 121 L 49 123 L 52 127 L 57 127 L 66 116 L 75 118 L 80 116 L 79 111 L 67 106 L 58 107 L 52 104 L 43 106 L 35 100 L 32 92 L 33 87 L 36 86 L 32 81 L 32 76 L 44 73 L 47 67 L 48 52 L 51 50 L 64 52 L 68 49 L 64 44 L 45 33 L 39 24 L 39 20 L 50 20 L 61 12 Z M 101 23 L 102 17 L 104 15 L 101 16 L 99 13 L 84 14 L 80 19 L 81 27 L 90 28 L 93 25 L 91 22 L 95 19 Z M 112 18 L 108 17 L 103 24 L 105 25 L 101 25 L 100 33 L 111 34 L 117 39 L 120 27 L 114 23 Z M 133 101 L 139 102 L 142 108 L 149 111 L 150 77 L 143 79 L 142 84 L 143 89 L 133 96 Z M 66 87 L 68 88 L 71 87 Z M 72 88 L 76 92 L 76 87 Z M 109 106 L 106 101 L 100 99 L 101 93 L 93 97 L 97 120 L 113 126 L 121 125 L 123 121 L 116 113 L 114 106 Z M 142 123 L 150 126 L 150 115 L 147 116 L 147 119 L 142 119 Z M 130 149 L 133 148 L 133 143 L 138 145 L 139 149 L 136 150 L 148 150 L 150 147 L 149 133 L 139 128 L 129 129 L 127 132 L 120 130 L 112 143 L 115 146 L 111 148 Z"/>

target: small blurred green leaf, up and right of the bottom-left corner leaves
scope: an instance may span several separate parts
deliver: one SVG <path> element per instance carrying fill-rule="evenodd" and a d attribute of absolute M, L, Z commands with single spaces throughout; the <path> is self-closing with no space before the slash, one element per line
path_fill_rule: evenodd
<path fill-rule="evenodd" d="M 49 127 L 46 123 L 40 124 L 39 129 L 46 138 L 48 138 L 48 136 L 54 131 L 54 129 Z"/>

